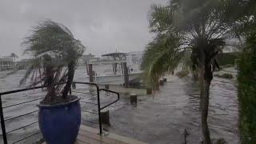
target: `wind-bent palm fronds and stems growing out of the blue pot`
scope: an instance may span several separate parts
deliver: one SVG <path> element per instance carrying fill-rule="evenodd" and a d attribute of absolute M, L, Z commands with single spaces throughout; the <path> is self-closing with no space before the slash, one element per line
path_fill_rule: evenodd
<path fill-rule="evenodd" d="M 32 65 L 20 83 L 31 75 L 30 86 L 39 83 L 47 86 L 45 102 L 53 103 L 57 96 L 68 98 L 76 62 L 85 48 L 82 43 L 66 26 L 48 20 L 34 26 L 22 44 L 27 46 L 24 54 L 32 55 Z M 60 83 L 65 84 L 56 85 Z"/>

